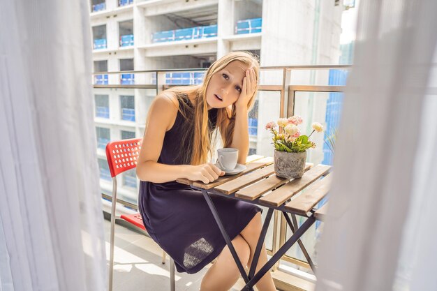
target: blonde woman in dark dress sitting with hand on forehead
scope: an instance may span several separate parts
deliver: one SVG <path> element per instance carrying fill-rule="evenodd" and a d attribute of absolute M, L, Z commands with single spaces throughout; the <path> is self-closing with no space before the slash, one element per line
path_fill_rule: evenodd
<path fill-rule="evenodd" d="M 209 183 L 225 174 L 208 163 L 216 128 L 224 147 L 239 149 L 238 163 L 245 163 L 247 114 L 255 100 L 259 68 L 252 54 L 231 52 L 209 67 L 202 84 L 158 94 L 147 117 L 137 164 L 140 213 L 152 239 L 175 260 L 177 271 L 193 274 L 217 258 L 202 279 L 201 291 L 229 290 L 239 271 L 202 193 L 175 180 Z M 217 195 L 212 200 L 239 259 L 250 266 L 262 228 L 261 209 Z M 262 250 L 257 270 L 267 262 Z M 276 290 L 270 272 L 256 286 Z"/>

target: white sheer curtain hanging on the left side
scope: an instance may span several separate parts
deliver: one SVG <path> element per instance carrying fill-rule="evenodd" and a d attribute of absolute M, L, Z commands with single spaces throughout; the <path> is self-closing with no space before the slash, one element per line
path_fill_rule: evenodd
<path fill-rule="evenodd" d="M 106 288 L 89 3 L 0 0 L 0 290 Z"/>

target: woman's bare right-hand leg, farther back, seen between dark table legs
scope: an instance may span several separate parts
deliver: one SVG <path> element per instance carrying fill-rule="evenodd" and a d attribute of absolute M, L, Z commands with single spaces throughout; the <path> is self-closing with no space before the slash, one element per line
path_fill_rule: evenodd
<path fill-rule="evenodd" d="M 249 244 L 249 247 L 251 248 L 251 255 L 249 257 L 249 261 L 247 263 L 247 266 L 251 267 L 253 255 L 255 253 L 256 244 L 258 243 L 258 239 L 260 238 L 262 230 L 262 219 L 261 219 L 261 213 L 258 212 L 255 217 L 252 218 L 252 220 L 249 222 L 246 227 L 244 227 L 244 230 L 240 233 L 240 235 L 243 237 L 243 239 Z M 267 252 L 265 251 L 265 244 L 262 244 L 260 258 L 258 259 L 258 264 L 256 265 L 256 271 L 260 270 L 261 267 L 267 262 Z M 255 271 L 255 272 L 256 272 Z M 273 283 L 272 273 L 268 271 L 262 278 L 260 278 L 260 281 L 256 283 L 256 288 L 259 291 L 276 291 L 276 288 Z"/>

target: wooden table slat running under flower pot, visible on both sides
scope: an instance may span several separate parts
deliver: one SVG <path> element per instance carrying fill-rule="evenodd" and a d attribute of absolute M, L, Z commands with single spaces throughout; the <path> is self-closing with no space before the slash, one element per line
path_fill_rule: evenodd
<path fill-rule="evenodd" d="M 310 167 L 312 167 L 312 163 L 306 163 L 305 170 L 309 170 Z M 262 194 L 277 188 L 281 186 L 282 184 L 286 184 L 290 181 L 290 179 L 284 179 L 281 177 L 277 177 L 276 174 L 273 174 L 272 176 L 268 177 L 267 179 L 264 179 L 262 181 L 259 181 L 256 184 L 253 184 L 249 187 L 243 188 L 237 193 L 235 193 L 235 196 L 246 199 L 246 200 L 255 200 L 256 198 L 260 197 Z"/>

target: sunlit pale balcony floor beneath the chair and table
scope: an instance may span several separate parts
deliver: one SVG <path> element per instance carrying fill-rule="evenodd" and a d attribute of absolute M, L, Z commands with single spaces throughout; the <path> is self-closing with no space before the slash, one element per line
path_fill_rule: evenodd
<path fill-rule="evenodd" d="M 104 222 L 106 256 L 109 266 L 110 222 Z M 113 291 L 170 290 L 169 258 L 162 264 L 162 250 L 149 237 L 115 225 L 114 239 L 114 285 Z M 176 290 L 197 291 L 207 269 L 197 274 L 175 272 Z M 232 291 L 241 290 L 244 286 L 242 278 L 237 281 Z"/>

